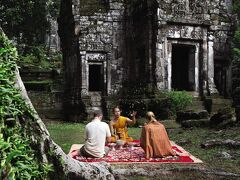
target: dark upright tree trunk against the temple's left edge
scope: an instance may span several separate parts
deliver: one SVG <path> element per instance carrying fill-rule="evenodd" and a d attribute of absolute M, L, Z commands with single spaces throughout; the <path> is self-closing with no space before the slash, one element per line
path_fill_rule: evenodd
<path fill-rule="evenodd" d="M 58 26 L 65 73 L 63 109 L 66 120 L 83 121 L 86 110 L 81 100 L 81 57 L 78 37 L 75 35 L 72 0 L 61 1 Z"/>

